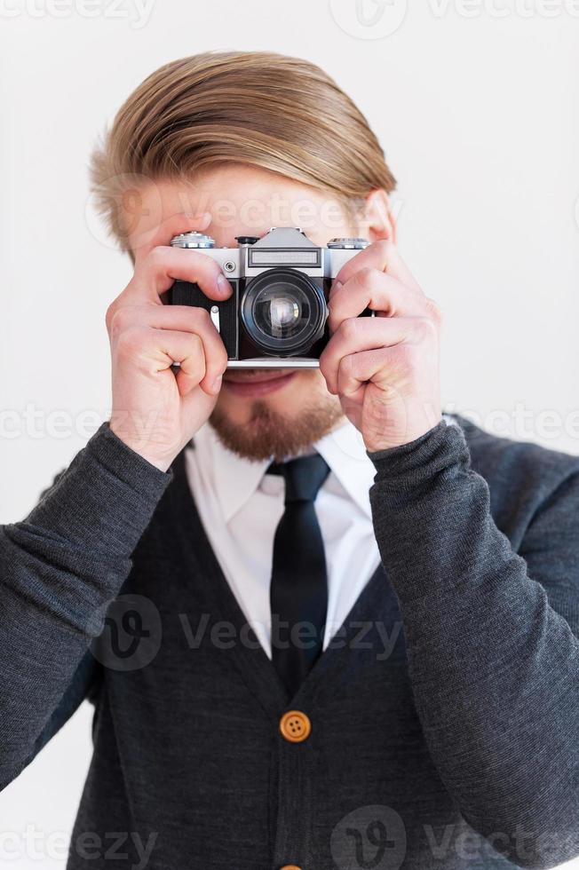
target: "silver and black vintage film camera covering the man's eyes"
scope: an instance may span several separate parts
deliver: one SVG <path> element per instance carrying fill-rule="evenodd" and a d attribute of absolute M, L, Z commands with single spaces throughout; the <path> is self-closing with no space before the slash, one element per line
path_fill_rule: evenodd
<path fill-rule="evenodd" d="M 331 283 L 369 241 L 332 239 L 319 248 L 298 227 L 289 226 L 236 241 L 238 248 L 216 248 L 202 233 L 171 239 L 174 248 L 216 260 L 234 292 L 225 302 L 215 302 L 197 284 L 175 281 L 170 304 L 210 312 L 226 345 L 227 368 L 317 368 L 329 339 Z"/>

